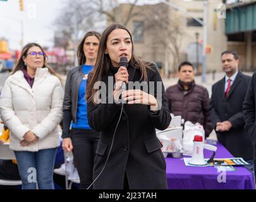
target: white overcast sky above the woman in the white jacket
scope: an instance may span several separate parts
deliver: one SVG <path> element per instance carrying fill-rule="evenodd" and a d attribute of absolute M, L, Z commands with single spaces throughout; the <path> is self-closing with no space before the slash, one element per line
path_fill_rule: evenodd
<path fill-rule="evenodd" d="M 37 42 L 52 47 L 54 28 L 52 22 L 67 0 L 25 0 L 20 11 L 19 0 L 0 1 L 0 38 L 9 41 L 9 49 L 20 49 L 21 20 L 23 20 L 23 44 Z M 105 0 L 108 1 L 108 0 Z M 119 0 L 120 3 L 128 0 Z M 156 3 L 157 0 L 141 0 L 140 3 Z"/>

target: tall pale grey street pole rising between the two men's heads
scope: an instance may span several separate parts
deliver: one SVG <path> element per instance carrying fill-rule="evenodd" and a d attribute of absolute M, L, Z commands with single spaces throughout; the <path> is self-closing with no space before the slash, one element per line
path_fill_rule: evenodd
<path fill-rule="evenodd" d="M 203 54 L 202 54 L 202 83 L 206 82 L 206 46 L 207 46 L 207 8 L 208 1 L 204 0 L 204 25 L 203 25 Z"/>

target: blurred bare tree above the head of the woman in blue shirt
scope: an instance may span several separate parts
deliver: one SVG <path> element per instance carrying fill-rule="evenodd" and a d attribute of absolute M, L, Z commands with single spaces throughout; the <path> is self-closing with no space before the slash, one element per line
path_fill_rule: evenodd
<path fill-rule="evenodd" d="M 135 5 L 138 0 L 128 1 L 129 6 L 128 15 L 122 18 L 120 21 L 118 16 L 118 0 L 66 0 L 64 1 L 64 7 L 61 9 L 61 13 L 54 21 L 54 27 L 56 28 L 56 41 L 58 45 L 67 47 L 66 39 L 76 42 L 82 35 L 88 30 L 97 30 L 101 32 L 106 24 L 100 23 L 97 27 L 97 23 L 109 20 L 111 22 L 121 23 L 127 25 L 132 16 L 138 15 L 134 13 Z M 64 38 L 61 40 L 58 38 Z"/>

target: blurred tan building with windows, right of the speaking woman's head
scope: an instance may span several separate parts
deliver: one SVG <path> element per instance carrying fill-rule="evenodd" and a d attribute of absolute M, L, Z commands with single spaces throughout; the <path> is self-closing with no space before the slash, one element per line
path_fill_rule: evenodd
<path fill-rule="evenodd" d="M 133 35 L 135 54 L 154 61 L 165 76 L 175 75 L 178 64 L 188 60 L 202 72 L 204 1 L 170 0 L 180 10 L 164 3 L 135 6 L 126 27 Z M 218 18 L 221 0 L 208 1 L 207 6 L 207 72 L 221 70 L 221 52 L 228 47 L 225 19 Z M 131 4 L 115 8 L 119 23 L 126 21 Z M 183 12 L 184 11 L 184 12 Z M 117 14 L 118 15 L 118 14 Z M 221 15 L 219 15 L 221 16 Z M 108 24 L 113 23 L 107 21 Z"/>

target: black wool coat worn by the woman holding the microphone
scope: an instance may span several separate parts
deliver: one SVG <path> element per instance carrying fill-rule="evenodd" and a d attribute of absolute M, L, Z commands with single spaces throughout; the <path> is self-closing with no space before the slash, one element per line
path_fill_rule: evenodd
<path fill-rule="evenodd" d="M 139 69 L 128 66 L 128 73 L 129 81 L 140 81 Z M 102 78 L 107 86 L 113 85 L 108 84 L 109 76 L 114 76 L 112 71 Z M 130 189 L 167 188 L 166 162 L 161 151 L 162 144 L 155 135 L 155 128 L 168 128 L 171 116 L 157 68 L 154 67 L 154 71 L 147 70 L 147 76 L 149 81 L 161 82 L 162 90 L 158 92 L 162 98 L 161 110 L 157 114 L 152 114 L 148 105 L 125 104 L 111 154 L 105 169 L 94 183 L 94 189 L 123 189 L 125 174 Z M 155 82 L 155 90 L 156 86 Z M 154 95 L 157 97 L 156 91 Z M 107 99 L 110 98 L 111 95 L 108 95 Z M 88 122 L 93 129 L 101 131 L 94 160 L 94 179 L 106 162 L 120 112 L 121 105 L 118 104 L 94 105 L 88 102 Z"/>

